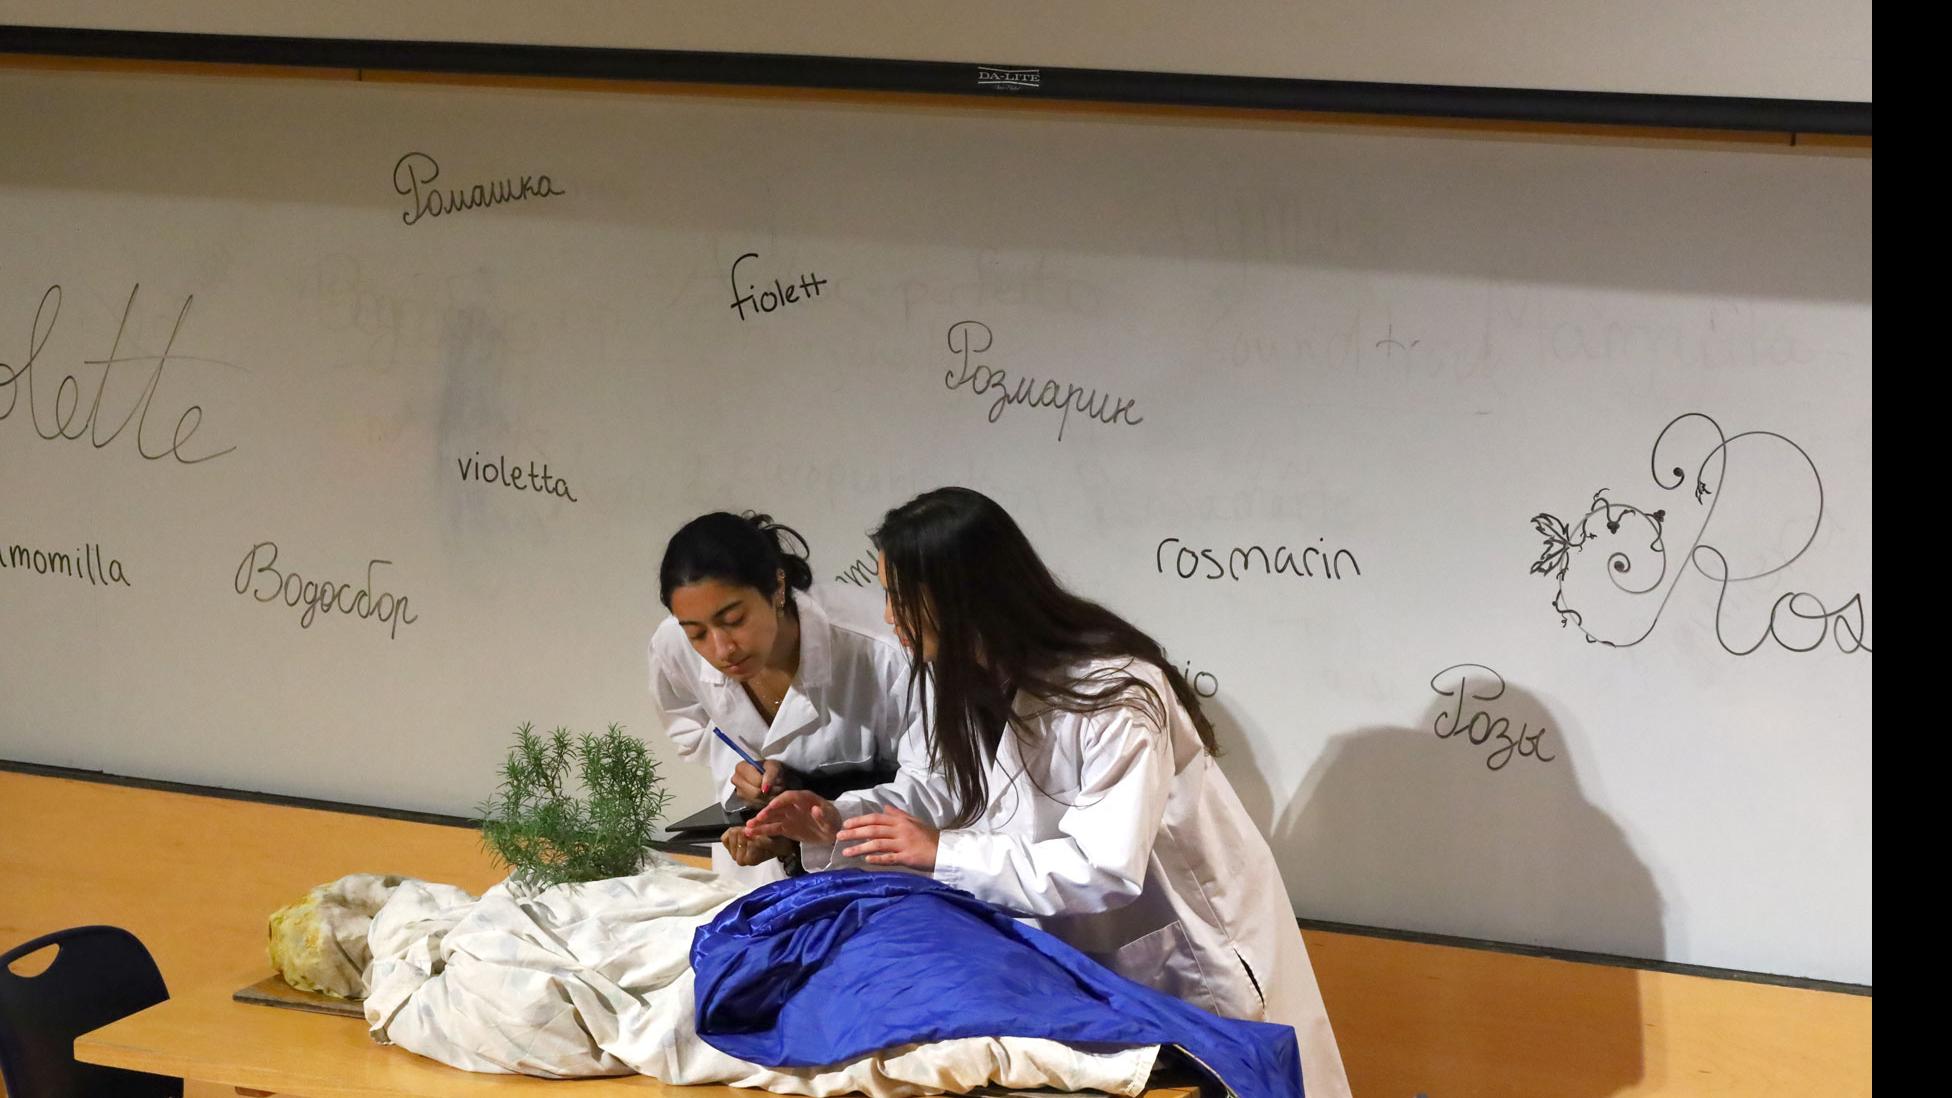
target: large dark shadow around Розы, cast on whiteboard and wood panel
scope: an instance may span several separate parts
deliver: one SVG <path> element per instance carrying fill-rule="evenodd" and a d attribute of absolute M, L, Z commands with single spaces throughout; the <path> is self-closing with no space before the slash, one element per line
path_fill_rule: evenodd
<path fill-rule="evenodd" d="M 1433 688 L 1444 697 L 1415 727 L 1337 737 L 1279 819 L 1238 721 L 1208 703 L 1226 772 L 1271 834 L 1296 912 L 1659 959 L 1653 875 L 1581 791 L 1562 721 L 1489 668 L 1454 668 Z M 1443 955 L 1458 963 L 1362 961 L 1435 957 L 1390 950 L 1318 957 L 1357 1094 L 1603 1098 L 1642 1080 L 1647 1020 L 1634 969 Z"/>

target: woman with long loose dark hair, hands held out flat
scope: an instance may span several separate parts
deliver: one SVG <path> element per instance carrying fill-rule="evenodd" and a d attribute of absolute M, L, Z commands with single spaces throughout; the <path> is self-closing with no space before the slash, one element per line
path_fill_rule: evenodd
<path fill-rule="evenodd" d="M 748 832 L 931 873 L 1113 971 L 1230 1018 L 1294 1026 L 1310 1098 L 1345 1096 L 1335 1035 L 1267 840 L 1158 641 L 1066 590 L 1017 524 L 937 488 L 874 531 L 888 621 L 933 692 L 947 797 L 781 793 Z M 826 844 L 835 844 L 826 848 Z"/>

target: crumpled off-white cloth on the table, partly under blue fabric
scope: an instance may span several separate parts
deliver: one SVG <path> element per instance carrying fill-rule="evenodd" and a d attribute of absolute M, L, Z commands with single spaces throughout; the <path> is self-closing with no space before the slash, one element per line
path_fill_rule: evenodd
<path fill-rule="evenodd" d="M 1140 1094 L 1158 1047 L 1078 1049 L 966 1037 L 826 1069 L 769 1069 L 699 1039 L 691 936 L 740 889 L 658 860 L 634 877 L 480 899 L 402 881 L 373 916 L 373 1037 L 467 1071 L 550 1078 L 640 1073 L 664 1082 L 902 1098 L 980 1086 Z"/>

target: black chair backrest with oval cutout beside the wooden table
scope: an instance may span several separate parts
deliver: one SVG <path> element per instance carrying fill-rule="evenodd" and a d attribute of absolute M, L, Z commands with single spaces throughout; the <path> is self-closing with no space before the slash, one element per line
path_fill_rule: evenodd
<path fill-rule="evenodd" d="M 59 950 L 37 975 L 14 961 Z M 0 953 L 0 1078 L 8 1098 L 182 1098 L 183 1080 L 74 1061 L 74 1037 L 170 998 L 119 926 L 74 926 Z"/>

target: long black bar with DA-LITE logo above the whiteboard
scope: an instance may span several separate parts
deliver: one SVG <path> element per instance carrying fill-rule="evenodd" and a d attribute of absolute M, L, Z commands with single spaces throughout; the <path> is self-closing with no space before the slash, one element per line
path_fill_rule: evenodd
<path fill-rule="evenodd" d="M 1870 137 L 1870 104 L 1835 100 L 1378 84 L 1120 68 L 1013 68 L 955 61 L 783 53 L 21 25 L 0 25 L 0 53 Z"/>

